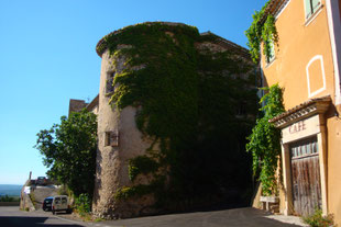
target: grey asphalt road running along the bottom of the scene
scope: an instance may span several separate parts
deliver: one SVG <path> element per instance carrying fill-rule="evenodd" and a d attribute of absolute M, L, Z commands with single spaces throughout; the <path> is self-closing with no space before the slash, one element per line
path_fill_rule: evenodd
<path fill-rule="evenodd" d="M 0 206 L 0 227 L 297 227 L 304 226 L 298 217 L 268 215 L 254 208 L 218 212 L 196 212 L 151 217 L 139 217 L 100 223 L 69 219 L 69 215 L 50 212 L 22 212 L 18 206 Z"/>

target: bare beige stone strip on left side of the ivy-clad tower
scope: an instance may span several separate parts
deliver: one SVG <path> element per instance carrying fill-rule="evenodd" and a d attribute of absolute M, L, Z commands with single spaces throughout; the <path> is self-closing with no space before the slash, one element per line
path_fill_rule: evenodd
<path fill-rule="evenodd" d="M 100 43 L 105 42 L 102 38 Z M 98 45 L 99 45 L 98 44 Z M 129 48 L 121 45 L 118 48 Z M 98 152 L 92 212 L 105 218 L 139 214 L 143 205 L 114 201 L 118 189 L 132 183 L 128 174 L 129 159 L 144 155 L 151 143 L 143 138 L 135 124 L 136 109 L 124 107 L 119 112 L 109 104 L 114 92 L 112 80 L 127 66 L 122 58 L 110 58 L 109 50 L 98 53 L 102 58 L 99 90 Z M 138 213 L 136 213 L 138 212 Z"/>

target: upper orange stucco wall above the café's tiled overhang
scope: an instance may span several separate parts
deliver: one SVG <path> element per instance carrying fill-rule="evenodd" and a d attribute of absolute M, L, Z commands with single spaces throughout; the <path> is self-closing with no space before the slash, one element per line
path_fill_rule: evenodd
<path fill-rule="evenodd" d="M 279 41 L 275 48 L 275 60 L 268 65 L 265 57 L 262 57 L 267 84 L 279 82 L 279 86 L 285 88 L 286 109 L 292 109 L 309 98 L 333 94 L 334 90 L 326 7 L 322 7 L 310 24 L 305 23 L 304 1 L 292 0 L 276 21 Z M 317 59 L 308 68 L 310 93 L 314 94 L 323 87 L 326 89 L 309 97 L 306 68 L 316 56 L 321 56 L 323 65 L 321 66 L 321 59 Z M 324 78 L 321 68 L 324 69 Z"/>

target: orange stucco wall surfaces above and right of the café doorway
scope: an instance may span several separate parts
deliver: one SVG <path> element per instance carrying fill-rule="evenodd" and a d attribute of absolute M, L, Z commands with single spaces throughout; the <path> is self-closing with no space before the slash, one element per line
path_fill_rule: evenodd
<path fill-rule="evenodd" d="M 306 22 L 304 0 L 290 0 L 276 21 L 279 41 L 275 60 L 267 64 L 262 56 L 265 86 L 278 82 L 285 89 L 286 110 L 327 94 L 334 100 L 333 58 L 324 0 L 315 16 Z M 341 117 L 341 106 L 334 105 L 326 115 L 327 206 L 341 225 L 341 118 L 336 116 L 337 109 Z"/>

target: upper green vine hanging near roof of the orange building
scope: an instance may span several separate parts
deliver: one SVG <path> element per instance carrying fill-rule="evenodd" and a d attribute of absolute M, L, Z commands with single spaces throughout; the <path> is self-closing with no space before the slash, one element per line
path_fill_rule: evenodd
<path fill-rule="evenodd" d="M 252 15 L 253 21 L 251 26 L 245 31 L 245 35 L 249 39 L 248 46 L 250 47 L 250 54 L 254 63 L 260 59 L 260 48 L 263 42 L 263 54 L 268 57 L 272 48 L 272 43 L 277 43 L 277 30 L 275 26 L 275 18 L 272 14 L 266 16 L 265 22 L 262 22 L 265 14 L 265 9 L 268 5 L 270 0 L 265 3 L 261 11 L 255 11 Z"/>

